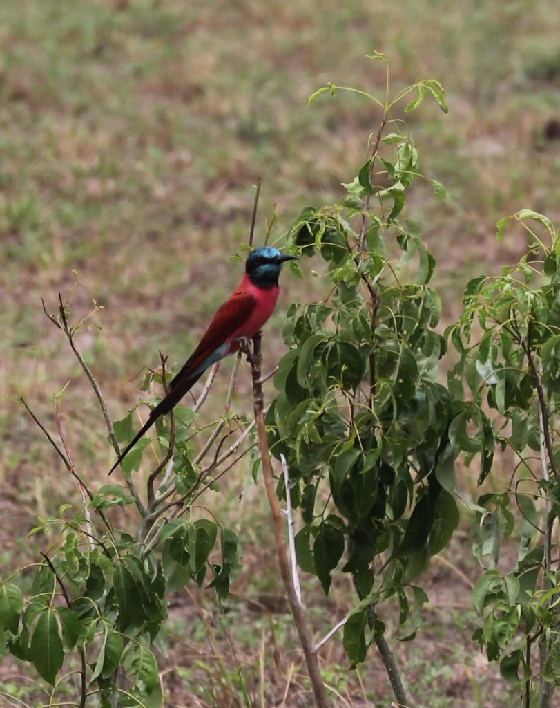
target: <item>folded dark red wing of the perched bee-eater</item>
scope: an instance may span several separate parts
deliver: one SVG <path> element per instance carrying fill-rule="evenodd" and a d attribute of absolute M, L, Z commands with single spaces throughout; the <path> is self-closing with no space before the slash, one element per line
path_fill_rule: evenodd
<path fill-rule="evenodd" d="M 217 358 L 216 350 L 218 350 L 231 335 L 237 330 L 243 322 L 247 320 L 257 307 L 257 299 L 249 292 L 236 292 L 231 295 L 226 302 L 218 308 L 211 323 L 204 332 L 202 339 L 199 341 L 197 348 L 189 356 L 187 362 L 182 367 L 180 372 L 175 375 L 170 383 L 171 389 L 175 388 L 181 382 L 190 379 L 195 375 L 199 375 L 208 368 L 214 361 L 221 359 L 227 351 Z"/>

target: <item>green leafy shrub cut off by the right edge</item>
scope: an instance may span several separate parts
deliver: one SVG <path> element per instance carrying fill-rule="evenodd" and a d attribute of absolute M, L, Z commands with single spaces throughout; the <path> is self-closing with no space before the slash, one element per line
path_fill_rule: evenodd
<path fill-rule="evenodd" d="M 527 656 L 535 644 L 544 682 L 554 687 L 560 680 L 554 609 L 560 576 L 552 560 L 552 525 L 560 512 L 560 237 L 537 212 L 523 210 L 515 219 L 529 234 L 527 253 L 501 275 L 469 282 L 465 309 L 447 336 L 460 356 L 449 375 L 450 389 L 462 398 L 465 381 L 472 398 L 469 457 L 481 453 L 479 480 L 491 473 L 486 457 L 494 449 L 492 429 L 512 463 L 507 488 L 481 496 L 472 523 L 474 552 L 490 565 L 474 588 L 483 622 L 474 638 L 490 660 L 500 661 L 503 678 L 527 690 Z M 498 222 L 498 239 L 507 223 Z M 493 421 L 483 409 L 494 411 Z M 518 561 L 501 576 L 491 566 L 498 562 L 501 537 L 513 533 L 511 506 L 521 519 Z M 520 641 L 524 650 L 518 649 Z"/>

